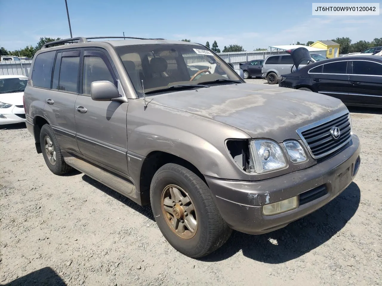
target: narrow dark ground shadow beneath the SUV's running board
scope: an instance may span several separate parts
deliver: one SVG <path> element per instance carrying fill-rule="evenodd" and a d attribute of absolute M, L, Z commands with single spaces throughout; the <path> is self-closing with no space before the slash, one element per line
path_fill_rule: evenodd
<path fill-rule="evenodd" d="M 126 206 L 130 207 L 133 210 L 136 210 L 137 212 L 141 213 L 148 219 L 151 219 L 152 221 L 155 222 L 154 215 L 152 214 L 151 206 L 148 204 L 146 206 L 139 206 L 136 202 L 132 201 L 129 198 L 126 198 L 122 194 L 118 193 L 117 191 L 114 191 L 110 189 L 109 187 L 105 186 L 104 184 L 92 179 L 91 177 L 87 175 L 83 175 L 82 179 L 86 182 L 89 183 L 90 185 L 94 186 L 100 191 L 103 191 L 105 194 L 111 196 L 114 199 L 117 199 L 121 203 L 125 204 Z"/>

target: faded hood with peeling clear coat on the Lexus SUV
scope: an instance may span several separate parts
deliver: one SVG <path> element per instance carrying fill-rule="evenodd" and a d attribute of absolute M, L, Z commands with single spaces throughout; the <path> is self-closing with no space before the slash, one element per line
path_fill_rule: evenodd
<path fill-rule="evenodd" d="M 219 85 L 150 99 L 151 103 L 231 125 L 252 138 L 278 142 L 299 139 L 299 127 L 346 109 L 337 98 L 265 84 Z"/>

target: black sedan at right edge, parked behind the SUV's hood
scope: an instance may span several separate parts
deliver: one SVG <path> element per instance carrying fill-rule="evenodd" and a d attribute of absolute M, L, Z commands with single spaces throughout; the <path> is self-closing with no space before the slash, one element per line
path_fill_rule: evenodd
<path fill-rule="evenodd" d="M 346 105 L 382 107 L 382 56 L 318 61 L 282 75 L 279 86 L 323 93 Z"/>

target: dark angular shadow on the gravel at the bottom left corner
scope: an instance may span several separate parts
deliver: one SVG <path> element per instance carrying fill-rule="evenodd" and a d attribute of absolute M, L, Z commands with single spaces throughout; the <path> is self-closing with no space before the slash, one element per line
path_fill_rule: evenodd
<path fill-rule="evenodd" d="M 61 277 L 50 267 L 44 267 L 25 276 L 19 277 L 2 286 L 19 285 L 44 285 L 44 286 L 66 286 Z"/>

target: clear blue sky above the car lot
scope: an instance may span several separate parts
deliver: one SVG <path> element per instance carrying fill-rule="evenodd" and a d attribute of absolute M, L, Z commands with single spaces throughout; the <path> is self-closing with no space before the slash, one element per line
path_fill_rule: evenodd
<path fill-rule="evenodd" d="M 350 37 L 356 42 L 382 37 L 382 15 L 312 16 L 312 2 L 300 0 L 67 2 L 73 37 L 125 32 L 203 44 L 208 40 L 210 45 L 216 40 L 221 50 L 231 43 L 253 50 L 293 41 Z M 1 1 L 0 46 L 15 50 L 28 43 L 35 46 L 40 37 L 70 37 L 64 0 L 19 0 L 16 6 Z"/>

